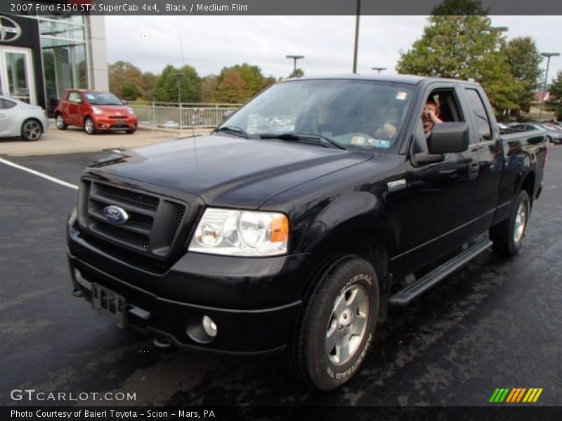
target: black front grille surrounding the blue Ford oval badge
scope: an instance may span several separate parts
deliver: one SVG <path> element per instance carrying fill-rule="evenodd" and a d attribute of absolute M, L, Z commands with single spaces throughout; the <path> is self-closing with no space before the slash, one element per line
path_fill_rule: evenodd
<path fill-rule="evenodd" d="M 103 214 L 117 206 L 126 222 L 111 222 Z M 84 179 L 79 192 L 78 222 L 87 234 L 153 258 L 169 256 L 178 236 L 187 206 L 158 194 L 117 187 Z"/>

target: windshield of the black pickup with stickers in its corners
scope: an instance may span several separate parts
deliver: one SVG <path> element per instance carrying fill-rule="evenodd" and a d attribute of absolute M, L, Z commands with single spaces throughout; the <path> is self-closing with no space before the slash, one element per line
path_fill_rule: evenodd
<path fill-rule="evenodd" d="M 221 127 L 257 138 L 320 135 L 346 148 L 392 147 L 412 100 L 412 87 L 361 80 L 277 83 L 251 100 Z"/>

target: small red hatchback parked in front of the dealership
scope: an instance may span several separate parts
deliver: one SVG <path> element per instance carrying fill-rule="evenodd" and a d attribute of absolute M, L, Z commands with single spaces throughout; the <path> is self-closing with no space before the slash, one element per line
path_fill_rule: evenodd
<path fill-rule="evenodd" d="M 67 89 L 55 109 L 57 128 L 84 127 L 89 135 L 103 131 L 135 133 L 138 119 L 129 105 L 109 92 Z"/>

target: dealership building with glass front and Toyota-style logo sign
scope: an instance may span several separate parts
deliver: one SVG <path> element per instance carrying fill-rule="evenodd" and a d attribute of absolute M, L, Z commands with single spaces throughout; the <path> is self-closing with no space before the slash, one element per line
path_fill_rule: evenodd
<path fill-rule="evenodd" d="M 67 88 L 109 90 L 104 17 L 0 15 L 0 94 L 52 114 Z"/>

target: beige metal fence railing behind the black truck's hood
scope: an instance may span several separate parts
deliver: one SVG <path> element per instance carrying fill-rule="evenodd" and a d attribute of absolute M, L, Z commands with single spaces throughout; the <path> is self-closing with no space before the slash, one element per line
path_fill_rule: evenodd
<path fill-rule="evenodd" d="M 223 122 L 226 112 L 241 104 L 192 104 L 176 102 L 129 102 L 138 125 L 160 128 L 210 128 Z"/>

